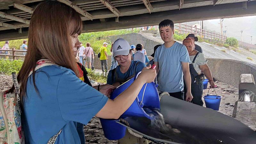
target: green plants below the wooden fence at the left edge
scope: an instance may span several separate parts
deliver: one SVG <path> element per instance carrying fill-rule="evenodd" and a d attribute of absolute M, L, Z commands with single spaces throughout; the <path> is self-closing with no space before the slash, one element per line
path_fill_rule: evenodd
<path fill-rule="evenodd" d="M 0 73 L 11 75 L 12 72 L 18 73 L 23 64 L 21 60 L 3 60 L 0 59 Z"/>

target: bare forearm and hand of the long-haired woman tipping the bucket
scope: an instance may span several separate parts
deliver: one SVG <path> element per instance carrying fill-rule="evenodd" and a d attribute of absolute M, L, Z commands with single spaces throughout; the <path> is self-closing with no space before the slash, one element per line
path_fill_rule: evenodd
<path fill-rule="evenodd" d="M 96 114 L 96 116 L 106 119 L 118 119 L 132 105 L 142 86 L 145 83 L 154 81 L 156 71 L 154 69 L 149 69 L 150 67 L 143 68 L 142 73 L 138 78 L 124 92 L 116 97 L 116 99 L 108 99 L 105 106 Z"/>

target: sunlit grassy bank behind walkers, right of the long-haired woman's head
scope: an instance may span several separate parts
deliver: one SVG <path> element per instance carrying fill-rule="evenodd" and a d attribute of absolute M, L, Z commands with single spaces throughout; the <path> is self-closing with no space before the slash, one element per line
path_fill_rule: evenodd
<path fill-rule="evenodd" d="M 102 31 L 102 32 L 91 32 L 91 33 L 84 33 L 79 36 L 79 40 L 86 46 L 86 43 L 90 43 L 93 51 L 97 54 L 100 52 L 100 47 L 103 46 L 104 42 L 107 42 L 109 45 L 107 47 L 108 55 L 111 54 L 111 42 L 108 39 L 108 36 L 115 36 L 115 35 L 123 35 L 129 33 L 137 33 L 139 30 L 134 28 L 134 30 L 129 29 L 121 29 L 121 30 L 110 30 L 110 31 Z"/>

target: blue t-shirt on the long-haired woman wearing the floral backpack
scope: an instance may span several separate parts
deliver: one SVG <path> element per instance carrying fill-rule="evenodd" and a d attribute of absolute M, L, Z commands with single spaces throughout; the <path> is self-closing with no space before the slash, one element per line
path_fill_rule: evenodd
<path fill-rule="evenodd" d="M 62 129 L 55 144 L 80 144 L 77 122 L 87 124 L 108 98 L 60 66 L 40 68 L 35 81 L 40 95 L 29 76 L 23 105 L 26 143 L 45 144 Z"/>

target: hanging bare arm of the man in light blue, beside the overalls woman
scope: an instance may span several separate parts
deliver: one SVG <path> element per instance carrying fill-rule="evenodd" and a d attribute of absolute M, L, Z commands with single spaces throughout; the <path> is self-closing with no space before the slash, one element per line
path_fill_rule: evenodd
<path fill-rule="evenodd" d="M 193 96 L 191 94 L 191 76 L 189 73 L 189 63 L 188 62 L 181 62 L 182 65 L 182 71 L 184 74 L 185 83 L 187 86 L 187 94 L 186 94 L 186 101 L 191 101 L 193 99 Z"/>

